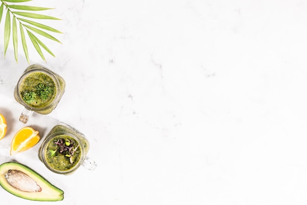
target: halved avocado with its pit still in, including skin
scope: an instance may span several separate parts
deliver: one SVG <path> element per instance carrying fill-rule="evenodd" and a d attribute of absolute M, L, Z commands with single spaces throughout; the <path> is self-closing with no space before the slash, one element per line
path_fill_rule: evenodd
<path fill-rule="evenodd" d="M 18 162 L 0 165 L 0 185 L 9 193 L 32 201 L 61 201 L 64 192 L 43 176 Z"/>

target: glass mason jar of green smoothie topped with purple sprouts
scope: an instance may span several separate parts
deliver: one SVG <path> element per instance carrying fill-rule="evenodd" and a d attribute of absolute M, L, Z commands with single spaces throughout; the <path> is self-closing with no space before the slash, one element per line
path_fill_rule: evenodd
<path fill-rule="evenodd" d="M 97 164 L 87 157 L 89 142 L 76 128 L 58 123 L 47 134 L 38 150 L 38 158 L 56 174 L 70 175 L 80 166 L 93 171 Z"/>

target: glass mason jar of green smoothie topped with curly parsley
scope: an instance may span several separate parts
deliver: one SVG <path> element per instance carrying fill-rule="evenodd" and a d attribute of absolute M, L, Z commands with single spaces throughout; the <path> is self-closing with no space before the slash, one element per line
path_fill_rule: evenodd
<path fill-rule="evenodd" d="M 15 100 L 24 106 L 19 120 L 26 123 L 33 111 L 42 115 L 51 113 L 65 86 L 64 79 L 50 69 L 39 64 L 29 65 L 14 89 Z"/>

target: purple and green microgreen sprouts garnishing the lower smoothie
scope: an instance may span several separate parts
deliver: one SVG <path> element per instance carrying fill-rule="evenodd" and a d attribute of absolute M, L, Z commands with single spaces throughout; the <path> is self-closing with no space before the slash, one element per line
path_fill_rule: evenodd
<path fill-rule="evenodd" d="M 76 152 L 79 145 L 76 146 L 76 143 L 74 143 L 73 141 L 69 139 L 64 140 L 62 138 L 60 138 L 57 142 L 54 142 L 54 144 L 56 144 L 58 147 L 54 151 L 54 153 L 52 149 L 49 150 L 50 152 L 52 151 L 51 156 L 55 156 L 55 152 L 59 149 L 58 152 L 66 157 L 69 157 L 70 163 L 73 164 L 74 163 L 73 155 Z"/>

